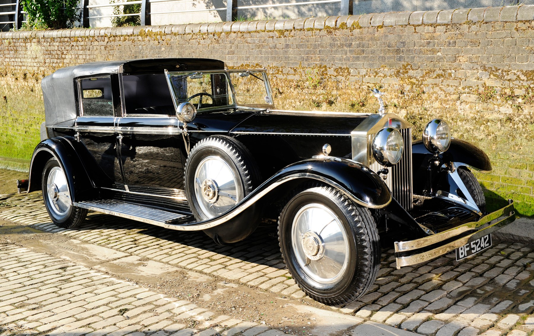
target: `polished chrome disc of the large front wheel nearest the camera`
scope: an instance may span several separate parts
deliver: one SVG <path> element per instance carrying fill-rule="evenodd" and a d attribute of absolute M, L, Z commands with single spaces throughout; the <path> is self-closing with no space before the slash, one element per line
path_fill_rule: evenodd
<path fill-rule="evenodd" d="M 338 282 L 349 262 L 347 232 L 328 207 L 312 203 L 293 219 L 291 244 L 297 263 L 312 280 L 329 285 Z"/>

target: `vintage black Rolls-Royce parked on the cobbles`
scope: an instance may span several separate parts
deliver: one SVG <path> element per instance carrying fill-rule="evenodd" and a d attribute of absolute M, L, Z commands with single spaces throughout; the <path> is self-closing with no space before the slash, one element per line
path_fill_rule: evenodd
<path fill-rule="evenodd" d="M 412 142 L 376 89 L 375 114 L 277 110 L 264 69 L 213 59 L 93 62 L 42 88 L 42 142 L 17 184 L 42 190 L 54 223 L 97 210 L 229 244 L 278 222 L 289 271 L 326 304 L 372 286 L 379 235 L 397 238 L 400 268 L 482 251 L 514 221 L 511 200 L 486 212 L 470 171 L 492 170 L 483 151 L 438 119 Z"/>

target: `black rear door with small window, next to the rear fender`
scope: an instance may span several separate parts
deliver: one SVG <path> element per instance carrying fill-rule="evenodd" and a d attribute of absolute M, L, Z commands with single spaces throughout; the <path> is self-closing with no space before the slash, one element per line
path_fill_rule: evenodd
<path fill-rule="evenodd" d="M 117 157 L 115 111 L 120 108 L 116 77 L 96 75 L 77 80 L 80 116 L 76 118 L 76 138 L 82 142 L 100 168 L 106 181 L 101 185 L 122 185 L 122 171 Z"/>

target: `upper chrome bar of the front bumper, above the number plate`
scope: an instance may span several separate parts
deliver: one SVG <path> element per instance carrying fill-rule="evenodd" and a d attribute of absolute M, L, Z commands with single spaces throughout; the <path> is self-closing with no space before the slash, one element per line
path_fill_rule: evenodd
<path fill-rule="evenodd" d="M 426 246 L 430 246 L 440 241 L 451 239 L 461 235 L 467 231 L 481 230 L 480 228 L 489 222 L 497 220 L 497 218 L 504 216 L 505 214 L 511 214 L 514 212 L 514 201 L 511 201 L 510 204 L 505 206 L 502 209 L 499 209 L 491 214 L 485 215 L 476 222 L 468 222 L 462 225 L 457 226 L 443 232 L 436 233 L 435 235 L 423 237 L 419 239 L 409 240 L 409 241 L 395 241 L 395 252 L 405 252 L 411 251 L 413 249 L 418 249 Z M 509 215 L 507 215 L 509 216 Z M 515 218 L 514 218 L 515 219 Z"/>

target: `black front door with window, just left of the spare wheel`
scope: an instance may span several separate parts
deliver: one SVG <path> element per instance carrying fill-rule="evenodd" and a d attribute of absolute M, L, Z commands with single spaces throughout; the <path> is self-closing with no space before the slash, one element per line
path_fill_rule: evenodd
<path fill-rule="evenodd" d="M 164 75 L 122 75 L 122 83 L 117 132 L 127 190 L 186 206 L 184 139 Z"/>

